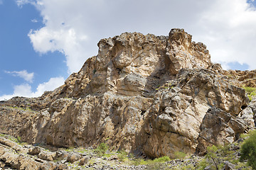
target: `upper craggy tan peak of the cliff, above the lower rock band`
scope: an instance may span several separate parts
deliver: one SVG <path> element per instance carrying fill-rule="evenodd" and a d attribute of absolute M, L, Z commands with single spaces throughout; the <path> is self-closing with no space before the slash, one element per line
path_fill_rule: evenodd
<path fill-rule="evenodd" d="M 174 79 L 180 69 L 208 69 L 206 45 L 191 42 L 183 29 L 169 36 L 122 33 L 98 43 L 99 53 L 66 81 L 62 96 L 112 91 L 126 96 L 154 96 L 157 86 Z"/>

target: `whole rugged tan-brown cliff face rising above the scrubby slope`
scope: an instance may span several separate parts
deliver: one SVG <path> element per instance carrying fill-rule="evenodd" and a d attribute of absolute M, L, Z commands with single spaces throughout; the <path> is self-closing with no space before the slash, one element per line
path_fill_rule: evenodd
<path fill-rule="evenodd" d="M 149 157 L 203 154 L 208 145 L 233 142 L 254 127 L 255 105 L 247 106 L 240 88 L 254 84 L 254 72 L 221 69 L 191 37 L 172 29 L 169 36 L 102 39 L 98 55 L 63 86 L 2 103 L 0 132 L 59 147 L 106 142 Z M 28 104 L 32 113 L 11 108 Z"/>

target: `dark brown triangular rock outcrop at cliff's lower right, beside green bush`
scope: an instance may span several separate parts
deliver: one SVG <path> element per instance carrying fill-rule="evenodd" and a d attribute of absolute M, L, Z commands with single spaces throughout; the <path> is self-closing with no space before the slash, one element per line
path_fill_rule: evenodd
<path fill-rule="evenodd" d="M 245 120 L 235 118 L 220 108 L 209 108 L 200 126 L 198 154 L 205 154 L 210 145 L 228 145 L 248 128 Z"/>

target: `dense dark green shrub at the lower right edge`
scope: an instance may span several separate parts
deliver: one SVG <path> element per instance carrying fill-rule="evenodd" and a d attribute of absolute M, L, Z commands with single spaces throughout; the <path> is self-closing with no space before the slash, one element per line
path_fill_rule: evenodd
<path fill-rule="evenodd" d="M 241 147 L 240 161 L 248 161 L 252 169 L 256 169 L 256 131 L 251 132 Z"/>

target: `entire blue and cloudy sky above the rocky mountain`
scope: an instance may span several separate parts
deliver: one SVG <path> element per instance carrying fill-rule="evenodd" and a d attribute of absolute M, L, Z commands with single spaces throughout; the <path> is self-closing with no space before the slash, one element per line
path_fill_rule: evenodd
<path fill-rule="evenodd" d="M 225 69 L 256 69 L 256 1 L 0 0 L 0 101 L 40 96 L 97 55 L 101 38 L 184 28 Z"/>

